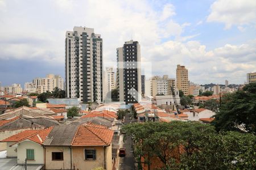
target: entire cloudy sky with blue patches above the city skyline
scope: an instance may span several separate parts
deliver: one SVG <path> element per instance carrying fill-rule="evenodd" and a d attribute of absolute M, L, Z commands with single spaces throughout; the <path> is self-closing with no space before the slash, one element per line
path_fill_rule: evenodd
<path fill-rule="evenodd" d="M 64 77 L 65 31 L 94 28 L 104 61 L 124 41 L 139 41 L 155 75 L 185 65 L 195 83 L 244 83 L 256 71 L 255 0 L 0 0 L 0 82 Z"/>

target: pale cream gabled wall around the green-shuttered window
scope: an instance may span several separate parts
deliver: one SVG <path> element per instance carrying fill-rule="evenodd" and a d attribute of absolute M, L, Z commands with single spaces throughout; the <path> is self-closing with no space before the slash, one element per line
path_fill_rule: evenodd
<path fill-rule="evenodd" d="M 25 163 L 27 149 L 34 149 L 35 160 L 27 160 L 27 164 L 44 164 L 43 147 L 32 141 L 23 141 L 17 147 L 17 163 Z"/>

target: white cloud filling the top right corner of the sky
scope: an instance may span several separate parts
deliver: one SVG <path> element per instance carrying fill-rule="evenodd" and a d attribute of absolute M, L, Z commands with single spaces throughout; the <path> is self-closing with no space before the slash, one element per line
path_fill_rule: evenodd
<path fill-rule="evenodd" d="M 246 25 L 255 25 L 256 1 L 217 0 L 210 6 L 207 21 L 224 23 L 225 29 L 236 25 L 241 30 Z"/>

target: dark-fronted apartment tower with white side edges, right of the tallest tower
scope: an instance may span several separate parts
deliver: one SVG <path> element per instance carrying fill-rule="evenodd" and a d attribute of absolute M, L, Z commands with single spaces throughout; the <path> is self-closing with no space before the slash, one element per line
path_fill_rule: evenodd
<path fill-rule="evenodd" d="M 126 104 L 129 104 L 138 103 L 141 100 L 140 62 L 141 46 L 138 41 L 126 41 L 122 47 L 117 48 L 117 88 L 119 101 L 125 101 Z"/>

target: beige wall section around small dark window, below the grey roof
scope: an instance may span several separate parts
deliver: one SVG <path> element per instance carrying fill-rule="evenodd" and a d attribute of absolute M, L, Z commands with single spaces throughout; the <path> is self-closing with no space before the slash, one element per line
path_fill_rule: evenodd
<path fill-rule="evenodd" d="M 63 160 L 52 160 L 52 152 L 63 152 Z M 46 169 L 70 169 L 68 146 L 46 146 Z"/>

